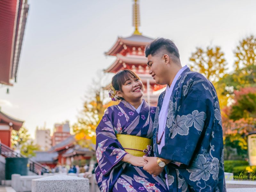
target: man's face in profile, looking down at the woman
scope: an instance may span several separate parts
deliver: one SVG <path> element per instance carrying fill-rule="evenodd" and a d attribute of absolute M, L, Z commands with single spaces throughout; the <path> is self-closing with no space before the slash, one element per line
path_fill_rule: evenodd
<path fill-rule="evenodd" d="M 162 55 L 148 55 L 149 75 L 155 79 L 157 84 L 168 84 L 166 76 L 166 61 Z"/>

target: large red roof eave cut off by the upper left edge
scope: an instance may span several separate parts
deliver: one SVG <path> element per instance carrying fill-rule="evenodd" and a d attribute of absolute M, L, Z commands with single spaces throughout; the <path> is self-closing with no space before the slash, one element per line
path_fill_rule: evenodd
<path fill-rule="evenodd" d="M 27 0 L 0 1 L 0 84 L 16 81 L 28 7 Z"/>

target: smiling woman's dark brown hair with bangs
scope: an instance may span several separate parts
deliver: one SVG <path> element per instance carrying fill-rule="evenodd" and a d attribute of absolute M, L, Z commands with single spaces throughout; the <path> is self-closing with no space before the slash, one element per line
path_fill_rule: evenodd
<path fill-rule="evenodd" d="M 140 80 L 140 77 L 130 69 L 118 71 L 118 73 L 112 77 L 111 85 L 116 91 L 123 92 L 122 86 L 130 78 L 138 78 Z M 123 100 L 124 98 L 118 97 L 117 99 Z"/>

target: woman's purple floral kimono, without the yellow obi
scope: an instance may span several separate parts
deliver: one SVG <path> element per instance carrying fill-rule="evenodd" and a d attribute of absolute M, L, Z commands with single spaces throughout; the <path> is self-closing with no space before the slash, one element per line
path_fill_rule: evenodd
<path fill-rule="evenodd" d="M 145 100 L 139 114 L 125 100 L 107 108 L 96 129 L 96 158 L 99 165 L 95 169 L 95 176 L 100 191 L 168 191 L 159 176 L 154 177 L 143 167 L 122 162 L 127 152 L 116 139 L 116 134 L 152 138 L 155 111 L 156 107 L 150 107 Z M 150 148 L 144 151 L 145 155 L 153 154 Z"/>

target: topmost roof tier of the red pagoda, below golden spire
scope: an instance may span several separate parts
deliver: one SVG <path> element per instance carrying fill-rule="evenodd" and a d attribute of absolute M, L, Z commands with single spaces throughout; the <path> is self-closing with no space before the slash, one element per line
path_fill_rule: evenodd
<path fill-rule="evenodd" d="M 154 39 L 143 36 L 143 35 L 132 35 L 125 38 L 118 37 L 113 47 L 108 52 L 105 52 L 105 54 L 116 56 L 116 54 L 119 53 L 120 49 L 123 47 L 123 44 L 132 45 L 132 46 L 146 46 L 148 43 L 150 43 L 153 40 Z"/>

